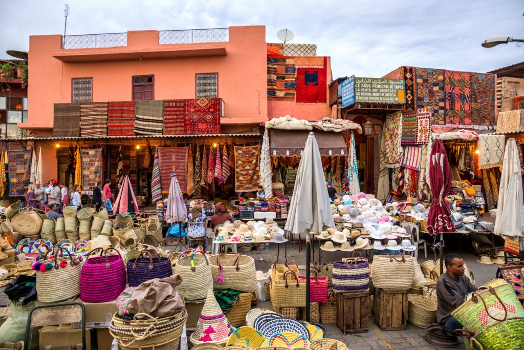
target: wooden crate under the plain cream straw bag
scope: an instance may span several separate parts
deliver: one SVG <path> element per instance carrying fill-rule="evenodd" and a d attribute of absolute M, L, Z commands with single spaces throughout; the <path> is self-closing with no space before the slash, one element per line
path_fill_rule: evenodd
<path fill-rule="evenodd" d="M 403 331 L 408 322 L 408 289 L 375 290 L 375 323 L 383 331 Z"/>

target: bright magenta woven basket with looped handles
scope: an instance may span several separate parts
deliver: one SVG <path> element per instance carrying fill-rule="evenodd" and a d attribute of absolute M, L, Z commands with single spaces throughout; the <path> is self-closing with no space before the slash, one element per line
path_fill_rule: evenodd
<path fill-rule="evenodd" d="M 80 273 L 80 299 L 88 303 L 116 300 L 126 288 L 126 268 L 122 256 L 107 255 L 113 248 L 96 248 L 86 256 Z M 89 257 L 100 251 L 99 257 Z"/>

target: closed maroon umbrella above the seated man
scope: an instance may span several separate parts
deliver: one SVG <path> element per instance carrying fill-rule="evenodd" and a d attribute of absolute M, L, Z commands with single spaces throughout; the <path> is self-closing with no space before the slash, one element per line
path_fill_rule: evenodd
<path fill-rule="evenodd" d="M 431 149 L 429 182 L 433 200 L 428 214 L 428 232 L 431 235 L 455 232 L 450 206 L 444 199 L 451 189 L 451 172 L 446 150 L 441 140 L 436 140 Z"/>

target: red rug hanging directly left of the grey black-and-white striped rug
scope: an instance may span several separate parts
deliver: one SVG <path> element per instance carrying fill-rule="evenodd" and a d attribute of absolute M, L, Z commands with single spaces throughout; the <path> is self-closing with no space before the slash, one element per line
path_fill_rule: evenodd
<path fill-rule="evenodd" d="M 107 135 L 135 135 L 135 101 L 108 102 Z"/>

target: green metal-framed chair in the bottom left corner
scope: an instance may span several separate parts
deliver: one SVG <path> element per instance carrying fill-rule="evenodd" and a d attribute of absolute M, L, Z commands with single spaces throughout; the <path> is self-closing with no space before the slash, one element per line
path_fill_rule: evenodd
<path fill-rule="evenodd" d="M 80 306 L 80 310 L 78 307 Z M 51 309 L 51 310 L 44 310 Z M 54 310 L 52 310 L 54 309 Z M 63 312 L 64 309 L 67 312 Z M 80 312 L 79 312 L 80 311 Z M 32 317 L 35 316 L 35 319 Z M 42 327 L 62 323 L 82 323 L 82 348 L 86 349 L 85 343 L 85 306 L 77 301 L 69 303 L 48 304 L 35 306 L 29 311 L 26 323 L 26 335 L 24 338 L 24 350 L 29 350 L 31 327 Z M 69 344 L 76 345 L 76 344 Z"/>

